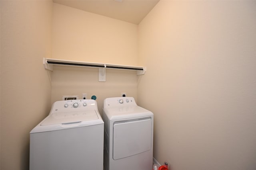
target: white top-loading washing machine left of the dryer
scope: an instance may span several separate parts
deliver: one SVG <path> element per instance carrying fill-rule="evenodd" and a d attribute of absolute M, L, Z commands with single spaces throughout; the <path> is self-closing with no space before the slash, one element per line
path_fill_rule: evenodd
<path fill-rule="evenodd" d="M 30 170 L 103 170 L 104 122 L 95 100 L 66 100 L 30 132 Z"/>

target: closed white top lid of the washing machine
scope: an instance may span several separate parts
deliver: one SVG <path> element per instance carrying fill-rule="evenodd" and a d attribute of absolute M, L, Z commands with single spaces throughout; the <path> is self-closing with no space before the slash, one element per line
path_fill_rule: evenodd
<path fill-rule="evenodd" d="M 95 110 L 54 113 L 47 117 L 41 125 L 69 124 L 99 119 Z"/>

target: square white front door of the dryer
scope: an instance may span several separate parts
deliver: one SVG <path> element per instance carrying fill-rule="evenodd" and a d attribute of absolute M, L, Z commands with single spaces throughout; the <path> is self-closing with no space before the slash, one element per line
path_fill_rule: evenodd
<path fill-rule="evenodd" d="M 152 119 L 119 121 L 113 127 L 113 159 L 126 158 L 151 149 Z"/>

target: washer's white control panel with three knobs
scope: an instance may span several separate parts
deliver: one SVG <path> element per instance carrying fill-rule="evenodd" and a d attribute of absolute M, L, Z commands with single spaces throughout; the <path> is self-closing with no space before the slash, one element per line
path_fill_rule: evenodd
<path fill-rule="evenodd" d="M 98 110 L 95 100 L 62 100 L 54 102 L 50 113 L 62 113 L 70 111 Z"/>

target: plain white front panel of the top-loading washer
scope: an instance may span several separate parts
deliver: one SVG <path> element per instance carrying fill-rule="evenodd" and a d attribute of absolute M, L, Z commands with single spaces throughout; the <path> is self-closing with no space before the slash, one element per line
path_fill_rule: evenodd
<path fill-rule="evenodd" d="M 30 170 L 103 170 L 104 125 L 30 134 Z"/>

